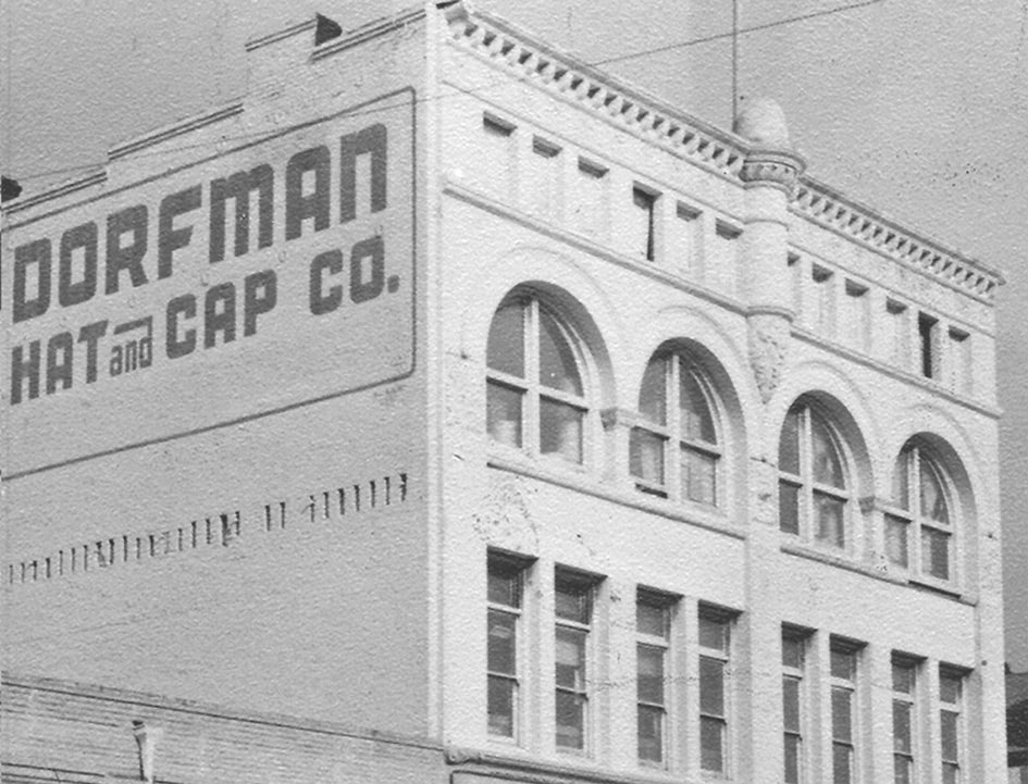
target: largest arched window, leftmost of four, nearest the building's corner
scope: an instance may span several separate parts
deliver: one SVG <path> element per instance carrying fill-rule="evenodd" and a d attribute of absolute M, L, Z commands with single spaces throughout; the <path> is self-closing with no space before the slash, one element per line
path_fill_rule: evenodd
<path fill-rule="evenodd" d="M 589 405 L 577 341 L 535 297 L 504 302 L 490 327 L 486 408 L 494 441 L 584 462 Z"/>

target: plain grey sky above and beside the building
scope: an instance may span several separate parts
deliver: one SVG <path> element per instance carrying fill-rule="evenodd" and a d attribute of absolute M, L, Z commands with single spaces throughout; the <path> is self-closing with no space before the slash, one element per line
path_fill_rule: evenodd
<path fill-rule="evenodd" d="M 740 96 L 782 105 L 808 171 L 1007 279 L 998 298 L 1006 647 L 1012 667 L 1028 670 L 1028 0 L 739 3 L 741 29 L 758 28 L 740 36 Z M 410 4 L 3 0 L 0 170 L 37 191 L 102 163 L 122 139 L 241 95 L 248 38 L 315 11 L 347 29 Z M 728 0 L 475 5 L 730 127 Z M 797 16 L 808 18 L 775 25 Z"/>

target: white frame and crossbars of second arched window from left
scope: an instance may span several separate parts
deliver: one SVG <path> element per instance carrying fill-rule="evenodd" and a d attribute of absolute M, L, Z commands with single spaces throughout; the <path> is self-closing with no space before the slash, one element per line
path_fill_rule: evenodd
<path fill-rule="evenodd" d="M 722 425 L 723 410 L 715 393 L 714 384 L 710 382 L 707 373 L 704 372 L 702 365 L 696 362 L 688 351 L 681 349 L 655 353 L 643 370 L 643 378 L 649 373 L 651 366 L 657 362 L 664 364 L 661 371 L 664 376 L 664 422 L 655 422 L 640 412 L 637 421 L 633 423 L 629 435 L 629 473 L 632 481 L 635 483 L 635 489 L 651 496 L 667 498 L 680 503 L 692 503 L 705 508 L 722 510 L 727 497 L 724 490 L 726 447 L 724 427 Z M 683 377 L 686 374 L 699 389 L 704 403 L 710 412 L 711 427 L 714 428 L 715 437 L 714 441 L 694 438 L 685 433 L 685 423 L 679 400 Z M 642 395 L 643 388 L 641 385 L 639 395 L 640 408 L 642 407 Z M 660 473 L 662 474 L 662 481 L 660 482 L 640 476 L 639 473 L 633 470 L 632 463 L 636 444 L 641 444 L 641 441 L 636 439 L 647 436 L 659 440 L 661 444 Z M 686 453 L 690 456 L 698 456 L 702 459 L 713 462 L 714 491 L 711 494 L 711 500 L 692 498 L 689 495 L 689 490 L 684 487 L 686 472 L 683 470 L 683 457 Z"/>

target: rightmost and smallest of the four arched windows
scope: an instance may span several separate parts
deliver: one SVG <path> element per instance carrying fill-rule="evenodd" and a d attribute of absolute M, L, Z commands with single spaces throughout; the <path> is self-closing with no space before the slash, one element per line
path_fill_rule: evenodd
<path fill-rule="evenodd" d="M 885 555 L 891 563 L 922 576 L 952 578 L 949 484 L 939 462 L 917 441 L 900 452 L 885 514 Z"/>

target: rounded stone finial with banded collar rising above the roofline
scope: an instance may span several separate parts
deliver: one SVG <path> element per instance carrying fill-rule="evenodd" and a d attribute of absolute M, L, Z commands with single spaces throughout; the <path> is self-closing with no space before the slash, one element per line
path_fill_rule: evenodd
<path fill-rule="evenodd" d="M 752 145 L 739 173 L 743 182 L 778 188 L 792 197 L 806 162 L 793 149 L 782 108 L 770 98 L 750 101 L 732 129 Z"/>

